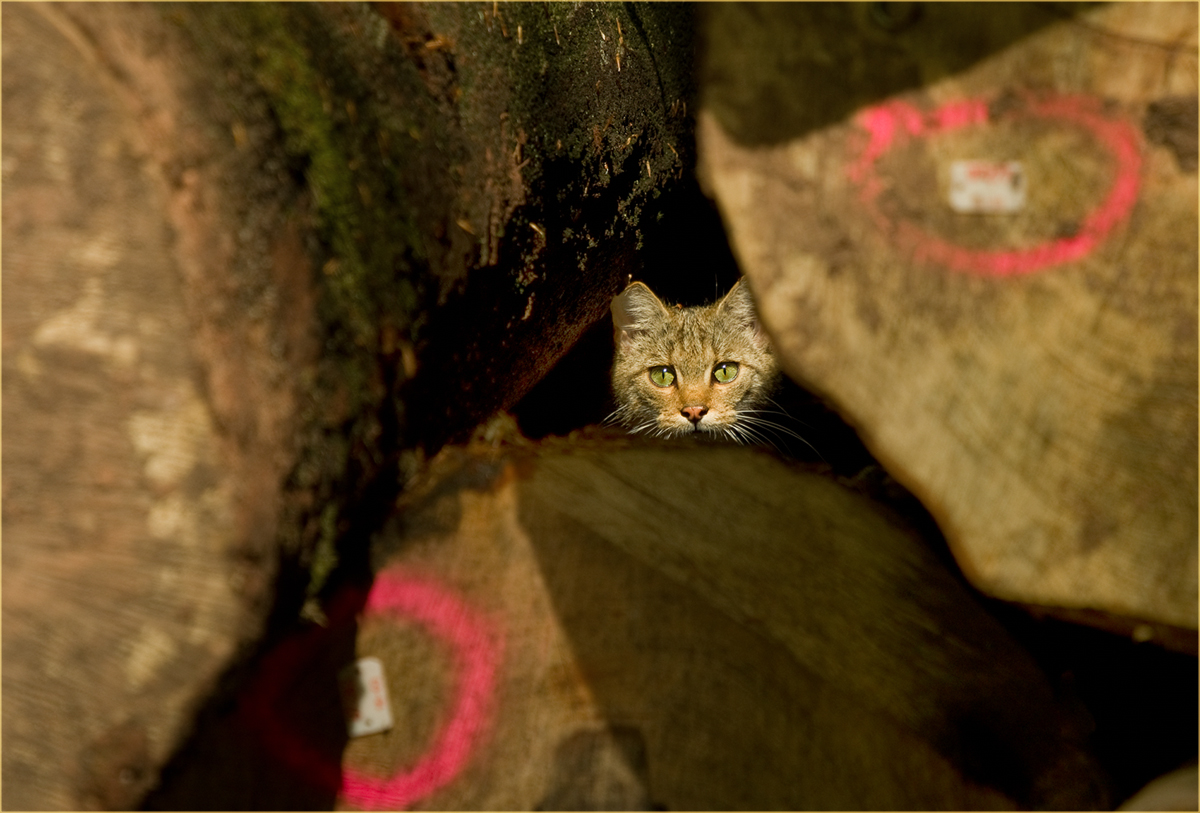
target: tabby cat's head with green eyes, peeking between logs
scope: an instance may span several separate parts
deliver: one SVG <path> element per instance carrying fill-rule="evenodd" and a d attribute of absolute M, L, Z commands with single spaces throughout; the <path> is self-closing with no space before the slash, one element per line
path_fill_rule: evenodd
<path fill-rule="evenodd" d="M 745 282 L 695 308 L 668 307 L 635 282 L 612 301 L 612 319 L 614 420 L 631 432 L 754 436 L 779 367 Z"/>

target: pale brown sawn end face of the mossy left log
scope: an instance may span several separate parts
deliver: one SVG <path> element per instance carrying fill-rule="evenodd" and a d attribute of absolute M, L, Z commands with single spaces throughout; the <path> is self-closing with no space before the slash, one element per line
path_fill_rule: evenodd
<path fill-rule="evenodd" d="M 137 40 L 145 17 L 109 34 Z M 136 806 L 262 634 L 288 373 L 306 351 L 270 339 L 281 324 L 302 339 L 311 318 L 287 307 L 302 288 L 253 320 L 209 300 L 233 318 L 194 341 L 187 283 L 228 279 L 203 271 L 228 259 L 229 233 L 157 163 L 196 145 L 157 140 L 178 120 L 154 120 L 103 54 L 60 6 L 4 10 L 2 802 L 16 809 Z M 262 273 L 293 278 L 302 252 L 274 247 Z"/>

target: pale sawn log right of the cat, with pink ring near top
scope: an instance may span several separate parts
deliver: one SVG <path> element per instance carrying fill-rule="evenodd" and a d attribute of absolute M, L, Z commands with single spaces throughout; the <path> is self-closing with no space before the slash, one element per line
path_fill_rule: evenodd
<path fill-rule="evenodd" d="M 1196 8 L 889 8 L 704 25 L 701 171 L 782 367 L 980 590 L 1195 631 Z M 952 209 L 960 159 L 1024 203 Z"/>

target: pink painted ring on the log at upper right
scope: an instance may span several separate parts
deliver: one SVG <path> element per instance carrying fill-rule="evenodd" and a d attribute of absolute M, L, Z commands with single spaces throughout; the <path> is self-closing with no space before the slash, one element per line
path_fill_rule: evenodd
<path fill-rule="evenodd" d="M 1080 229 L 1069 237 L 1028 248 L 971 249 L 948 242 L 910 222 L 894 222 L 880 210 L 878 198 L 883 182 L 875 173 L 878 159 L 906 138 L 929 138 L 989 124 L 989 106 L 983 98 L 952 102 L 928 114 L 899 101 L 863 110 L 856 122 L 866 131 L 868 139 L 858 159 L 847 167 L 847 175 L 859 187 L 859 199 L 881 229 L 910 249 L 917 259 L 931 260 L 955 271 L 995 277 L 1040 271 L 1087 257 L 1109 237 L 1117 224 L 1129 217 L 1138 201 L 1141 183 L 1138 133 L 1124 121 L 1105 118 L 1098 107 L 1097 101 L 1088 96 L 1028 97 L 1022 106 L 1004 114 L 1010 119 L 1046 119 L 1082 127 L 1111 153 L 1116 163 L 1112 185 L 1104 199 L 1084 218 Z"/>

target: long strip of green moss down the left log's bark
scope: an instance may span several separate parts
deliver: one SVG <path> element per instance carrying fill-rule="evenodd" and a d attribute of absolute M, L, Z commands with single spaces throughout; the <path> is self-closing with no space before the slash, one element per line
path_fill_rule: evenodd
<path fill-rule="evenodd" d="M 361 36 L 364 25 L 385 25 L 366 6 L 198 4 L 167 14 L 212 76 L 227 79 L 222 92 L 234 119 L 274 125 L 282 136 L 284 155 L 264 152 L 263 165 L 302 174 L 311 198 L 302 209 L 318 239 L 313 282 L 323 350 L 319 372 L 304 385 L 308 405 L 289 488 L 317 499 L 306 511 L 318 522 L 295 517 L 289 522 L 296 529 L 281 535 L 310 564 L 308 591 L 317 595 L 336 567 L 346 518 L 382 460 L 378 416 L 389 406 L 380 368 L 390 362 L 380 357 L 379 331 L 388 325 L 403 341 L 416 341 L 428 269 L 410 200 L 419 199 L 413 179 L 430 173 L 414 164 L 431 150 L 437 155 L 439 133 L 425 127 L 421 141 L 409 134 L 410 120 L 433 119 L 427 106 L 407 101 L 422 100 L 425 89 L 394 40 Z M 380 76 L 378 66 L 390 73 Z"/>

